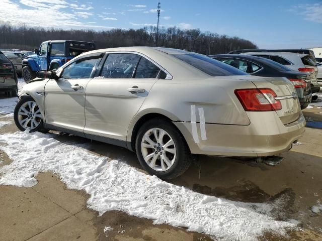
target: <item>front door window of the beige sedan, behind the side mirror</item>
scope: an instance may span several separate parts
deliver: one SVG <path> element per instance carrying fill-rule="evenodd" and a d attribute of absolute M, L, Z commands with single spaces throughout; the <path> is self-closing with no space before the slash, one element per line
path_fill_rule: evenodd
<path fill-rule="evenodd" d="M 86 59 L 73 62 L 62 72 L 64 79 L 88 79 L 91 77 L 94 66 L 101 58 Z"/>

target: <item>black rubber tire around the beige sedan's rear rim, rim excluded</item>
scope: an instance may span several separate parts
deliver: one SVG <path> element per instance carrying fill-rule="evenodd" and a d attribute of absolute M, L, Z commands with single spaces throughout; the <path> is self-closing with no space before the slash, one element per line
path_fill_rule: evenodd
<path fill-rule="evenodd" d="M 144 134 L 152 128 L 160 128 L 165 130 L 173 139 L 176 146 L 176 159 L 173 166 L 167 171 L 156 171 L 149 167 L 149 165 L 144 161 L 141 151 L 141 141 Z M 190 166 L 192 162 L 192 155 L 188 148 L 186 141 L 183 136 L 179 132 L 179 130 L 174 126 L 171 122 L 164 118 L 153 118 L 144 123 L 139 129 L 136 141 L 135 141 L 135 149 L 137 158 L 144 168 L 150 175 L 155 175 L 161 179 L 173 179 L 181 174 L 183 174 Z"/>

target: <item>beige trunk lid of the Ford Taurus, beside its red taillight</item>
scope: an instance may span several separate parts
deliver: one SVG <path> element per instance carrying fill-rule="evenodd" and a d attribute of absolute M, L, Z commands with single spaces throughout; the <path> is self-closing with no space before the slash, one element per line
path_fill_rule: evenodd
<path fill-rule="evenodd" d="M 301 107 L 293 84 L 283 77 L 243 77 L 252 81 L 257 88 L 270 88 L 276 93 L 276 99 L 281 102 L 282 109 L 275 110 L 284 125 L 295 122 L 300 114 Z"/>

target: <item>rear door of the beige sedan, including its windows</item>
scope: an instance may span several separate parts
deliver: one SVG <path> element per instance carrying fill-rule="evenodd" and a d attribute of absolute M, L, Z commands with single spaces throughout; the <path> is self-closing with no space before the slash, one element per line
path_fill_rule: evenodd
<path fill-rule="evenodd" d="M 138 53 L 110 53 L 86 88 L 85 135 L 126 141 L 131 119 L 157 80 L 160 68 Z"/>

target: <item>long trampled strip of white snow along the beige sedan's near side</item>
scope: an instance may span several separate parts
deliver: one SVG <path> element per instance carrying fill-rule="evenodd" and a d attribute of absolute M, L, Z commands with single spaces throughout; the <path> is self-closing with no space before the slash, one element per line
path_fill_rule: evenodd
<path fill-rule="evenodd" d="M 0 135 L 12 163 L 0 168 L 0 184 L 32 187 L 39 172 L 52 171 L 71 189 L 90 194 L 88 207 L 187 227 L 218 240 L 256 240 L 267 229 L 284 233 L 294 222 L 271 217 L 276 204 L 243 203 L 196 193 L 146 175 L 118 160 L 89 153 L 88 144 L 61 143 L 55 134 Z"/>

